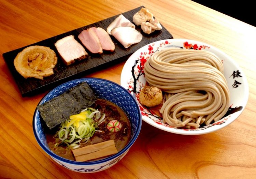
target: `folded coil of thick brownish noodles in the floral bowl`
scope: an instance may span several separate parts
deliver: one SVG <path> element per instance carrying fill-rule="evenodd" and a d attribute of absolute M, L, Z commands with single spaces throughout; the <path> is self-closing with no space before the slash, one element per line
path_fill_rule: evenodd
<path fill-rule="evenodd" d="M 229 107 L 222 61 L 204 50 L 171 48 L 154 53 L 144 65 L 146 81 L 165 92 L 163 122 L 199 128 L 220 120 Z"/>

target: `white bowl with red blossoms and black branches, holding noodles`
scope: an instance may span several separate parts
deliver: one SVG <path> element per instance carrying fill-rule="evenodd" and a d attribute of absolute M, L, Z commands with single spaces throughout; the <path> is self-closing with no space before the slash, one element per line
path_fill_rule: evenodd
<path fill-rule="evenodd" d="M 166 48 L 174 48 L 174 47 L 187 48 L 187 49 L 191 49 L 191 50 L 208 50 L 208 51 L 213 52 L 217 56 L 219 56 L 223 60 L 224 76 L 228 81 L 230 94 L 232 93 L 230 106 L 231 107 L 232 107 L 232 105 L 233 105 L 233 107 L 239 106 L 241 108 L 237 112 L 234 112 L 211 125 L 204 126 L 203 128 L 199 128 L 196 130 L 177 129 L 172 126 L 169 126 L 168 124 L 162 123 L 161 119 L 157 120 L 154 117 L 153 117 L 153 119 L 151 117 L 148 117 L 146 115 L 147 111 L 145 112 L 146 109 L 143 108 L 144 106 L 140 104 L 140 102 L 137 98 L 138 92 L 140 91 L 140 85 L 141 85 L 141 87 L 143 87 L 143 85 L 144 85 L 143 83 L 145 83 L 144 75 L 143 74 L 140 75 L 139 71 L 143 72 L 143 68 L 141 68 L 143 63 L 145 63 L 145 60 L 150 58 L 150 56 L 153 53 L 155 53 L 155 51 L 166 49 Z M 138 63 L 136 63 L 137 60 L 138 60 Z M 238 86 L 238 88 L 230 87 L 231 83 L 233 83 L 233 80 L 236 80 L 236 79 L 232 79 L 232 74 L 230 76 L 230 73 L 234 70 L 238 70 L 240 72 L 240 76 L 242 76 L 242 78 L 237 79 L 241 83 Z M 136 90 L 135 90 L 136 92 L 134 92 L 134 90 L 133 90 L 134 88 L 133 89 L 131 88 L 132 85 L 129 84 L 134 81 L 133 76 L 132 76 L 132 71 L 134 73 L 136 72 L 136 74 L 137 74 L 136 77 L 138 77 L 140 75 L 138 77 L 138 81 L 141 84 L 140 85 L 138 85 L 138 83 L 136 84 L 137 85 Z M 129 81 L 129 80 L 133 80 L 133 81 Z M 247 83 L 245 74 L 243 73 L 243 70 L 239 67 L 239 65 L 230 56 L 228 56 L 222 50 L 219 50 L 218 48 L 216 48 L 212 45 L 209 45 L 209 44 L 206 44 L 203 42 L 199 42 L 199 41 L 195 41 L 195 40 L 188 40 L 188 39 L 161 40 L 161 41 L 147 44 L 144 47 L 140 48 L 139 50 L 134 52 L 129 57 L 129 59 L 126 61 L 125 65 L 123 67 L 122 73 L 121 73 L 120 84 L 136 98 L 136 100 L 140 106 L 140 109 L 141 109 L 142 120 L 144 120 L 148 124 L 158 128 L 158 129 L 161 129 L 163 131 L 176 133 L 176 134 L 183 134 L 183 135 L 207 134 L 207 133 L 211 133 L 211 132 L 217 131 L 219 129 L 222 129 L 225 126 L 229 125 L 230 123 L 232 123 L 234 120 L 236 120 L 240 116 L 240 114 L 242 113 L 242 111 L 245 108 L 245 105 L 248 101 L 248 95 L 249 95 L 248 83 Z M 136 95 L 137 95 L 137 97 L 136 97 Z M 237 99 L 234 99 L 234 96 L 236 96 L 236 97 L 238 96 Z"/>

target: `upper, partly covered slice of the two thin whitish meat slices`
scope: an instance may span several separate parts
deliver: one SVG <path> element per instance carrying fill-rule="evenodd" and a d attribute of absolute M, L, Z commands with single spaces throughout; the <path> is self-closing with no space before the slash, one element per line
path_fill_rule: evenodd
<path fill-rule="evenodd" d="M 135 25 L 130 22 L 125 16 L 122 14 L 119 15 L 108 27 L 107 27 L 107 32 L 108 34 L 112 35 L 112 29 L 116 27 L 131 27 L 135 29 Z"/>

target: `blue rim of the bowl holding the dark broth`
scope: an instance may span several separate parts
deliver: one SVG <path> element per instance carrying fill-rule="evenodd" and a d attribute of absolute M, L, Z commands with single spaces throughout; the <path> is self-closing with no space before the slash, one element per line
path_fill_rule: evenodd
<path fill-rule="evenodd" d="M 122 88 L 123 90 L 127 91 L 124 87 L 122 87 L 121 85 L 118 85 L 117 83 L 113 82 L 113 81 L 110 81 L 110 80 L 107 80 L 107 79 L 102 79 L 102 78 L 95 78 L 95 77 L 88 77 L 88 78 L 76 78 L 76 79 L 72 79 L 70 81 L 67 81 L 65 83 L 62 83 L 56 87 L 54 87 L 51 91 L 49 91 L 48 93 L 46 93 L 43 98 L 40 100 L 40 102 L 38 103 L 38 105 L 43 101 L 43 99 L 45 98 L 45 96 L 47 96 L 49 93 L 53 92 L 56 88 L 62 86 L 63 84 L 68 84 L 72 81 L 76 81 L 76 80 L 86 80 L 86 79 L 95 79 L 95 80 L 103 80 L 103 81 L 108 81 L 109 83 L 112 83 L 116 86 L 118 86 L 119 88 Z M 131 93 L 129 93 L 129 91 L 127 91 L 127 94 L 131 97 L 131 99 L 135 102 L 136 104 L 136 107 L 137 107 L 137 110 L 138 110 L 138 113 L 139 113 L 139 122 L 138 122 L 138 128 L 137 130 L 135 131 L 135 134 L 134 136 L 131 138 L 131 140 L 129 141 L 129 143 L 122 149 L 120 150 L 119 152 L 117 152 L 116 154 L 114 155 L 111 155 L 105 159 L 101 159 L 101 160 L 97 160 L 97 161 L 91 161 L 91 162 L 77 162 L 77 161 L 72 161 L 72 160 L 68 160 L 68 159 L 65 159 L 65 158 L 62 158 L 60 157 L 59 155 L 55 154 L 54 152 L 52 152 L 50 149 L 48 149 L 47 147 L 44 146 L 44 144 L 42 143 L 42 141 L 40 140 L 38 134 L 37 134 L 37 131 L 35 129 L 35 118 L 37 116 L 37 114 L 39 113 L 38 109 L 35 108 L 35 111 L 34 111 L 34 115 L 33 115 L 33 121 L 32 121 L 32 126 L 33 126 L 33 133 L 34 133 L 34 136 L 35 136 L 35 139 L 37 140 L 37 143 L 39 144 L 39 146 L 48 154 L 50 155 L 52 158 L 54 159 L 57 159 L 61 162 L 65 162 L 65 163 L 69 163 L 69 164 L 73 164 L 73 165 L 95 165 L 95 164 L 101 164 L 101 163 L 104 163 L 104 162 L 108 162 L 112 159 L 115 159 L 117 158 L 118 156 L 122 155 L 123 153 L 125 153 L 127 150 L 129 150 L 129 148 L 133 145 L 133 143 L 136 141 L 136 139 L 138 138 L 139 136 L 139 133 L 140 133 L 140 130 L 141 130 L 141 125 L 142 125 L 142 117 L 141 117 L 141 111 L 140 111 L 140 107 L 136 101 L 136 99 L 132 96 Z M 37 106 L 38 106 L 37 105 Z M 121 108 L 122 109 L 122 108 Z M 123 109 L 122 109 L 123 110 Z"/>

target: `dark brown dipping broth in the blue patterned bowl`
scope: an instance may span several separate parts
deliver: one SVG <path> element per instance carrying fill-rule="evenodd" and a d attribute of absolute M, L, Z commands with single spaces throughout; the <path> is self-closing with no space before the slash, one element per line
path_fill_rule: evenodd
<path fill-rule="evenodd" d="M 102 122 L 98 126 L 99 128 L 96 129 L 102 132 L 96 131 L 94 135 L 90 137 L 89 141 L 85 145 L 81 145 L 80 148 L 87 145 L 97 144 L 106 140 L 113 139 L 115 142 L 117 151 L 119 152 L 120 150 L 122 150 L 128 144 L 131 138 L 131 124 L 125 112 L 116 104 L 100 98 L 97 98 L 95 103 L 90 107 L 94 109 L 98 109 L 101 113 L 105 113 L 106 115 L 105 121 Z M 111 120 L 118 120 L 122 124 L 122 128 L 120 129 L 120 131 L 110 132 L 106 128 L 106 125 Z M 50 131 L 46 131 L 46 140 L 50 149 L 55 154 L 65 159 L 75 161 L 75 158 L 73 156 L 71 149 L 69 149 L 67 146 L 62 145 L 62 146 L 54 147 L 56 143 L 56 137 L 54 137 L 54 135 L 56 134 L 57 131 L 58 129 L 56 128 Z M 58 137 L 57 137 L 57 140 L 59 140 Z M 100 160 L 100 159 L 95 159 L 95 160 Z"/>

